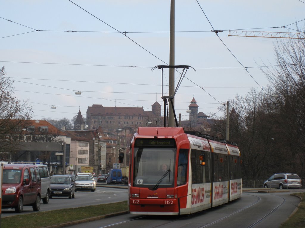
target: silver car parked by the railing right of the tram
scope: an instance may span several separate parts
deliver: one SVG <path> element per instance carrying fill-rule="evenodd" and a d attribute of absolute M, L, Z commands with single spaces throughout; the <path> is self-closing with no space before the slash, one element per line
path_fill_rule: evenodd
<path fill-rule="evenodd" d="M 301 188 L 301 178 L 293 173 L 278 173 L 264 182 L 264 188 Z"/>

